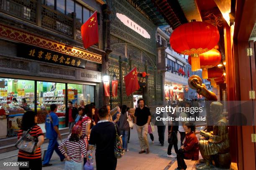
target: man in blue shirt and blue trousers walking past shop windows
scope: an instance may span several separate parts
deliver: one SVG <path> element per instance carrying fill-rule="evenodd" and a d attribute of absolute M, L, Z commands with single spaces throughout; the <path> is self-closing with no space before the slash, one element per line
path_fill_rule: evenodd
<path fill-rule="evenodd" d="M 47 114 L 45 121 L 45 129 L 46 129 L 46 138 L 49 139 L 49 145 L 46 151 L 46 155 L 44 157 L 44 162 L 42 167 L 51 166 L 50 160 L 51 156 L 55 150 L 55 152 L 59 155 L 61 162 L 65 159 L 64 155 L 59 151 L 59 144 L 57 142 L 57 137 L 61 140 L 61 134 L 59 132 L 59 119 L 55 114 L 57 112 L 56 104 L 51 104 L 50 106 L 51 112 Z"/>

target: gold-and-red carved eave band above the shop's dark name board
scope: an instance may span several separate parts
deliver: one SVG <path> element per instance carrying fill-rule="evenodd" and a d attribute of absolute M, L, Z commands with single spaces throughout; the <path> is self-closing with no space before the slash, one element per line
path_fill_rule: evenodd
<path fill-rule="evenodd" d="M 95 63 L 102 63 L 102 56 L 97 53 L 92 53 L 81 48 L 68 46 L 64 43 L 27 33 L 23 30 L 12 28 L 3 24 L 0 24 L 0 38 L 45 48 L 51 51 L 82 58 L 84 60 L 92 61 Z"/>

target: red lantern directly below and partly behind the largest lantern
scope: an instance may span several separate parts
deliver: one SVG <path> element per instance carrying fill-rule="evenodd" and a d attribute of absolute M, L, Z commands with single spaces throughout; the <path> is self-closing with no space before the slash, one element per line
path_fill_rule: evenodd
<path fill-rule="evenodd" d="M 202 53 L 200 57 L 200 68 L 202 69 L 202 78 L 208 79 L 207 69 L 217 66 L 221 61 L 220 52 L 214 48 L 210 51 Z M 191 65 L 191 56 L 188 57 L 188 62 Z"/>

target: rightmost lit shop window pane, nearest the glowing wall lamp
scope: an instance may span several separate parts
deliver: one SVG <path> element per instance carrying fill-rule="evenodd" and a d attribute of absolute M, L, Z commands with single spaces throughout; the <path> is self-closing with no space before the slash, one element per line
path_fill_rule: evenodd
<path fill-rule="evenodd" d="M 95 86 L 84 84 L 68 84 L 68 101 L 79 107 L 80 101 L 84 104 L 95 102 Z"/>

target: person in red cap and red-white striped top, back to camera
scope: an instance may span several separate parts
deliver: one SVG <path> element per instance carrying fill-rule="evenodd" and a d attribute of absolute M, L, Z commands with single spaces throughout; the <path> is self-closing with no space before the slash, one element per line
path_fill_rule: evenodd
<path fill-rule="evenodd" d="M 82 136 L 82 127 L 75 125 L 72 128 L 71 135 L 59 145 L 59 150 L 66 157 L 65 170 L 82 170 L 82 158 L 87 157 L 92 153 L 87 151 L 84 140 L 80 139 Z"/>

